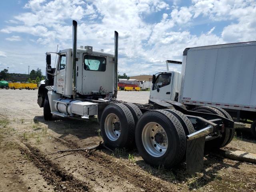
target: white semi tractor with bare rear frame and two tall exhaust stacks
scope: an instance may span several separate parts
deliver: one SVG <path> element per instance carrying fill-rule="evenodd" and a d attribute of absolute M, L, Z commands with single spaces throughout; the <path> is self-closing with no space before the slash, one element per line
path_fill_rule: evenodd
<path fill-rule="evenodd" d="M 184 104 L 155 99 L 151 104 L 118 101 L 118 33 L 114 55 L 77 48 L 77 22 L 73 21 L 73 48 L 60 50 L 56 68 L 46 52 L 46 80 L 38 89 L 44 119 L 97 116 L 101 135 L 110 148 L 133 148 L 152 166 L 175 166 L 186 157 L 187 172 L 202 169 L 205 144 L 226 146 L 237 124 L 221 108 L 187 110 Z M 212 72 L 214 73 L 214 72 Z"/>

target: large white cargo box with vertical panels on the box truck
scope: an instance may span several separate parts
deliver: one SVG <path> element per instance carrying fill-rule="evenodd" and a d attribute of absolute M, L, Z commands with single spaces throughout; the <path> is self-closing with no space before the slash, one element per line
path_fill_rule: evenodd
<path fill-rule="evenodd" d="M 182 65 L 179 101 L 256 111 L 256 42 L 188 48 Z"/>

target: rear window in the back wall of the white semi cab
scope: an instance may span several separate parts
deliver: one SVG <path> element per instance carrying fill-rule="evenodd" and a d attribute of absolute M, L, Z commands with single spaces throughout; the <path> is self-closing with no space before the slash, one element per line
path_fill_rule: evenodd
<path fill-rule="evenodd" d="M 106 58 L 85 55 L 84 56 L 84 69 L 91 71 L 106 71 Z"/>

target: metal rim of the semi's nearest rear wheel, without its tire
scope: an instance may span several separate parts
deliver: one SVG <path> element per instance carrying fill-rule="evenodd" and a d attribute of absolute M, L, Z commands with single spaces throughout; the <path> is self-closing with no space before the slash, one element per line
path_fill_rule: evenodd
<path fill-rule="evenodd" d="M 149 122 L 142 130 L 142 144 L 145 150 L 154 157 L 165 154 L 168 148 L 167 134 L 158 123 Z"/>

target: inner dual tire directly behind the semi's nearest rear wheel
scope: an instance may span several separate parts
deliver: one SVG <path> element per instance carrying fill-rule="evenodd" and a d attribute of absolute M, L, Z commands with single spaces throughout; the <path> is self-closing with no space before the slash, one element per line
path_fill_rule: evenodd
<path fill-rule="evenodd" d="M 174 116 L 176 116 L 176 118 L 178 118 L 178 120 L 180 120 L 180 123 L 182 124 L 182 127 L 185 131 L 186 136 L 195 132 L 193 124 L 187 118 L 187 116 L 184 115 L 182 112 L 175 109 L 165 109 L 165 110 L 172 113 Z"/>

